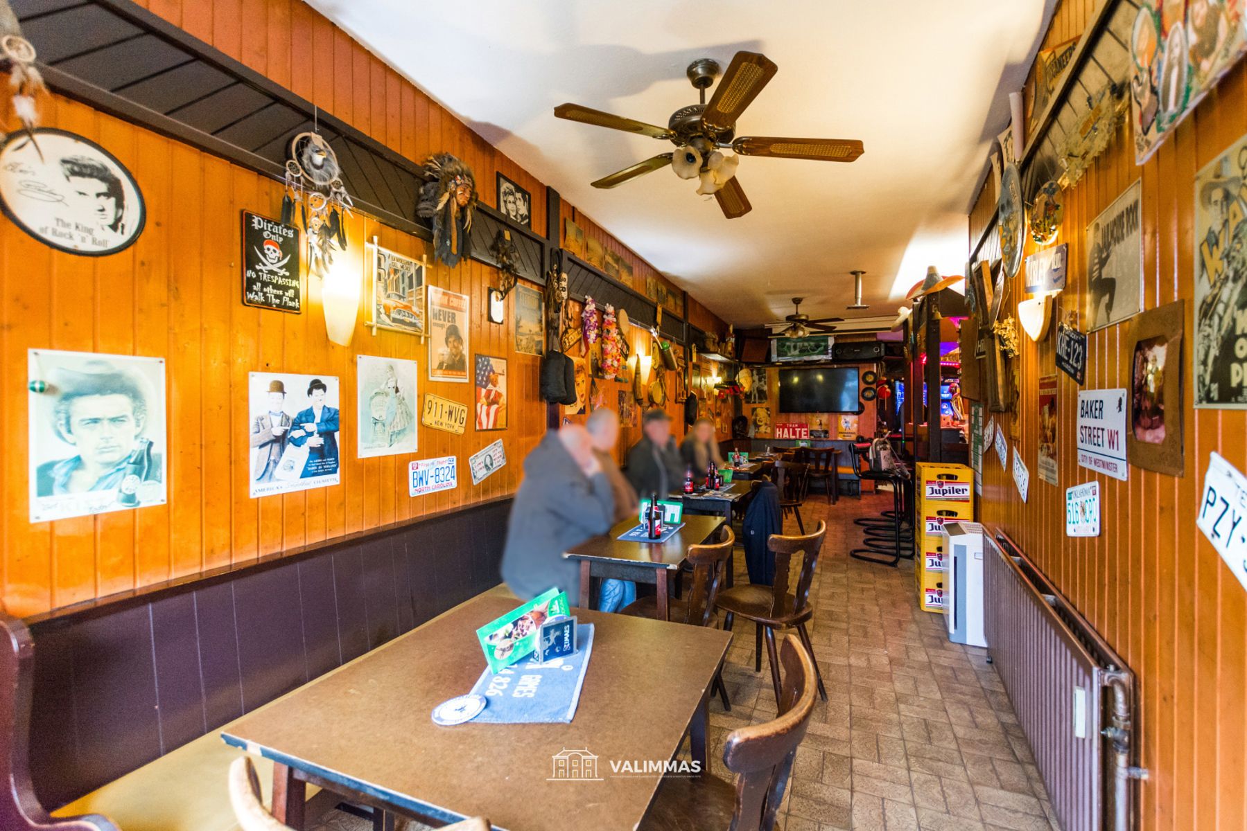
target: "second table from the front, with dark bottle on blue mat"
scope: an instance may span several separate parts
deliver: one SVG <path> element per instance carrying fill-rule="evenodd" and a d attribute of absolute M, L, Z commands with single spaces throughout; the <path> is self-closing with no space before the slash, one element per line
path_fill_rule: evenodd
<path fill-rule="evenodd" d="M 662 543 L 621 542 L 620 534 L 638 525 L 636 517 L 616 523 L 605 534 L 572 546 L 562 553 L 580 562 L 580 608 L 590 607 L 590 579 L 594 577 L 653 583 L 658 594 L 658 617 L 668 619 L 668 574 L 685 562 L 688 546 L 700 546 L 710 539 L 723 517 L 685 517 L 685 526 Z"/>

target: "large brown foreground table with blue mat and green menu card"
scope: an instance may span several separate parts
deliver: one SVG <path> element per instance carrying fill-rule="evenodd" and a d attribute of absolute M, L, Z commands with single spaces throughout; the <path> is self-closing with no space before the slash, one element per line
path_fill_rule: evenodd
<path fill-rule="evenodd" d="M 688 733 L 705 765 L 707 701 L 731 634 L 579 609 L 595 625 L 594 652 L 571 724 L 433 724 L 433 708 L 468 693 L 485 669 L 476 628 L 515 605 L 469 601 L 222 738 L 273 760 L 273 812 L 293 829 L 303 827 L 312 782 L 435 824 L 488 816 L 510 831 L 631 831 L 661 776 L 616 776 L 611 761 L 670 760 Z M 554 777 L 564 750 L 595 755 L 596 779 Z"/>

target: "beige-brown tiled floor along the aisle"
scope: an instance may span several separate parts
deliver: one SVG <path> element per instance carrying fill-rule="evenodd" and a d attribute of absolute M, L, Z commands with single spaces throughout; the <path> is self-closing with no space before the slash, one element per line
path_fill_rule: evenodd
<path fill-rule="evenodd" d="M 888 496 L 807 503 L 807 529 L 827 520 L 811 598 L 828 701 L 818 701 L 797 751 L 777 829 L 974 831 L 1057 829 L 1030 748 L 985 650 L 949 643 L 943 618 L 918 609 L 913 563 L 852 559 L 853 518 L 890 507 Z M 796 533 L 796 521 L 786 523 Z M 737 579 L 747 581 L 737 552 Z M 737 623 L 723 673 L 732 711 L 711 704 L 711 769 L 736 728 L 776 715 L 771 674 L 753 672 L 753 630 Z M 332 812 L 320 831 L 368 829 Z M 412 825 L 416 831 L 423 826 Z M 710 831 L 710 830 L 708 830 Z"/>

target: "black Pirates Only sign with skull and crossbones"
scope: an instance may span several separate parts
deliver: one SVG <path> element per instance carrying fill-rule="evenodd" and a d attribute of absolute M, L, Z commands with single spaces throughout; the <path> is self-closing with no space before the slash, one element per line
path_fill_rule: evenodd
<path fill-rule="evenodd" d="M 276 311 L 303 310 L 297 228 L 242 212 L 242 302 Z"/>

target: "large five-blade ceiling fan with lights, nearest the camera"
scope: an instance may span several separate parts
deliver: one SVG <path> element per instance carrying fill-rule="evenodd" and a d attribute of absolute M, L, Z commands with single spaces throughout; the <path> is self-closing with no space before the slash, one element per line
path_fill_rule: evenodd
<path fill-rule="evenodd" d="M 676 146 L 672 153 L 658 153 L 604 176 L 592 183 L 595 188 L 612 188 L 670 166 L 681 178 L 698 177 L 701 187 L 697 192 L 713 193 L 723 216 L 734 219 L 752 209 L 736 181 L 738 156 L 852 162 L 864 152 L 862 142 L 855 138 L 737 137 L 736 120 L 778 71 L 779 67 L 766 55 L 737 52 L 707 103 L 706 90 L 718 77 L 720 66 L 708 57 L 698 59 L 688 65 L 686 75 L 697 88 L 701 102 L 676 110 L 666 127 L 591 110 L 579 103 L 560 103 L 554 108 L 554 115 L 569 121 L 667 140 Z M 731 150 L 734 154 L 725 154 L 722 150 Z"/>

